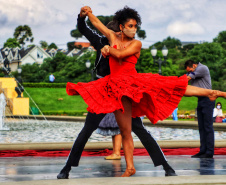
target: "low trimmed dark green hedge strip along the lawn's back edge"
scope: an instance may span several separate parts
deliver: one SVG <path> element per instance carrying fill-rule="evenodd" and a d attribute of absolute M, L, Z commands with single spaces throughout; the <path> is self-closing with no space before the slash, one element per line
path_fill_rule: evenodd
<path fill-rule="evenodd" d="M 66 88 L 67 83 L 28 83 L 24 82 L 24 87 L 32 87 L 32 88 Z"/>

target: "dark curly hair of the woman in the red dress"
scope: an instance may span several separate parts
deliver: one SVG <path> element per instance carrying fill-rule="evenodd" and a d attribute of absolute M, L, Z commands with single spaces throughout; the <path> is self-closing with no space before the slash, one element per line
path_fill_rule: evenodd
<path fill-rule="evenodd" d="M 113 17 L 113 21 L 118 22 L 118 25 L 124 25 L 128 19 L 135 19 L 137 21 L 137 25 L 141 25 L 141 18 L 138 12 L 132 8 L 129 8 L 128 6 L 118 10 Z"/>

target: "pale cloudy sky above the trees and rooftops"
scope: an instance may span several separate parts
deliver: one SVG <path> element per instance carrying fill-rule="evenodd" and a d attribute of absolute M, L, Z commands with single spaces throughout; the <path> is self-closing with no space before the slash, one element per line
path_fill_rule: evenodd
<path fill-rule="evenodd" d="M 168 36 L 212 42 L 226 30 L 226 0 L 0 0 L 0 48 L 13 38 L 17 26 L 25 24 L 32 29 L 34 44 L 44 40 L 67 48 L 67 42 L 75 41 L 70 32 L 86 5 L 96 16 L 113 15 L 126 5 L 136 9 L 147 36 L 141 40 L 143 48 Z"/>

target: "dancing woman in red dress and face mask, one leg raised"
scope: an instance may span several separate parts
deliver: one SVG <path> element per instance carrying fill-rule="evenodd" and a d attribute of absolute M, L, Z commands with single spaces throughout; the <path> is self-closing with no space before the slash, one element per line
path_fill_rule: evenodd
<path fill-rule="evenodd" d="M 113 20 L 118 22 L 121 30 L 118 35 L 105 27 L 89 7 L 82 9 L 109 40 L 110 46 L 105 46 L 102 54 L 109 56 L 111 74 L 89 83 L 68 83 L 66 90 L 69 95 L 81 95 L 89 112 L 114 112 L 126 159 L 126 171 L 122 177 L 129 177 L 136 172 L 131 117 L 146 115 L 155 124 L 172 114 L 182 96 L 207 96 L 215 100 L 218 96 L 226 97 L 226 93 L 189 86 L 186 75 L 166 77 L 137 73 L 135 64 L 142 46 L 139 40 L 134 39 L 137 26 L 141 24 L 137 11 L 124 7 L 115 13 Z"/>

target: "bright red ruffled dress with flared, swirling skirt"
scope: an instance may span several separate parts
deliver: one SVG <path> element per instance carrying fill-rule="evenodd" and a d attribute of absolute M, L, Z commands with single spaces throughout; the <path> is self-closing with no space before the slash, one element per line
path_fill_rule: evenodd
<path fill-rule="evenodd" d="M 68 82 L 68 95 L 81 95 L 91 113 L 124 111 L 121 98 L 132 100 L 132 117 L 146 115 L 153 123 L 164 120 L 177 108 L 184 95 L 187 76 L 160 76 L 152 73 L 137 73 L 135 55 L 124 58 L 121 64 L 109 57 L 111 74 L 96 81 L 77 84 Z"/>

